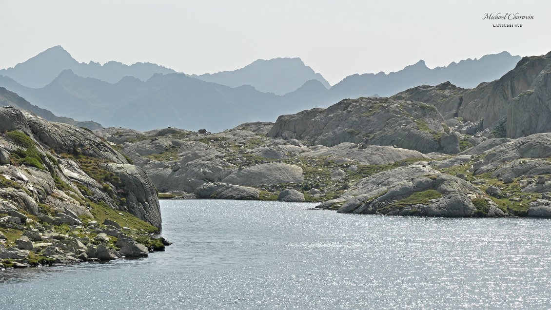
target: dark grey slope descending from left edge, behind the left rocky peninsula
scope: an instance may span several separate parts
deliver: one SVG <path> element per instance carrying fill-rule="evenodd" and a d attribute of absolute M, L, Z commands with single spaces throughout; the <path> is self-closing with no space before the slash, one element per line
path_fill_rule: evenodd
<path fill-rule="evenodd" d="M 44 108 L 31 105 L 29 101 L 26 101 L 22 97 L 18 96 L 17 94 L 3 87 L 0 87 L 0 106 L 10 106 L 10 107 L 18 108 L 19 110 L 30 111 L 35 113 L 38 116 L 44 117 L 47 121 L 51 121 L 51 122 L 72 124 L 74 126 L 84 127 L 88 129 L 102 128 L 100 124 L 93 121 L 79 122 L 69 117 L 56 116 L 52 112 Z"/>

